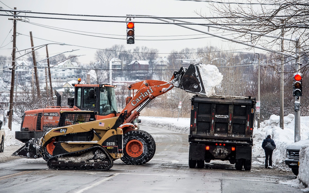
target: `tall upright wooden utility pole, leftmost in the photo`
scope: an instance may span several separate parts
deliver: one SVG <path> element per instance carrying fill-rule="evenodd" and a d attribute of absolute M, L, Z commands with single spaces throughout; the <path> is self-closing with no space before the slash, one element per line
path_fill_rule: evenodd
<path fill-rule="evenodd" d="M 16 7 L 14 7 L 16 10 Z M 14 11 L 16 15 L 16 11 Z M 13 97 L 14 97 L 14 83 L 15 83 L 15 51 L 16 51 L 16 20 L 13 18 L 13 52 L 12 52 L 12 77 L 11 77 L 11 89 L 10 89 L 10 108 L 9 108 L 9 129 L 12 131 L 13 120 Z"/>

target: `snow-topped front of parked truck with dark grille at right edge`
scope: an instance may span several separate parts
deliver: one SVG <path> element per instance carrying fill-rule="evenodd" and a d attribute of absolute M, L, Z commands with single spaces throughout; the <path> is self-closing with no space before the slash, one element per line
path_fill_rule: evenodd
<path fill-rule="evenodd" d="M 309 138 L 292 143 L 286 147 L 286 165 L 292 169 L 293 174 L 298 175 L 299 167 L 299 150 L 306 143 L 309 143 Z"/>

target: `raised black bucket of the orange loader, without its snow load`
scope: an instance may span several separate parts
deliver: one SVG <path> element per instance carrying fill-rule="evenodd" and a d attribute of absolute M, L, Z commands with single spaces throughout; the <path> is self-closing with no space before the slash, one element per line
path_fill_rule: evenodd
<path fill-rule="evenodd" d="M 181 67 L 179 71 L 175 71 L 174 86 L 187 92 L 206 95 L 200 65 L 203 64 L 190 64 L 188 68 Z"/>

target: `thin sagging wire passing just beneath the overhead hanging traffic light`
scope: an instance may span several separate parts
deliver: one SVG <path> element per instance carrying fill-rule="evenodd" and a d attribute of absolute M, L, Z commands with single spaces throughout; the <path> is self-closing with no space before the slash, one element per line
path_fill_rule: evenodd
<path fill-rule="evenodd" d="M 23 35 L 23 36 L 28 36 L 28 35 L 21 34 L 21 33 L 18 33 L 18 34 Z M 30 37 L 30 36 L 28 36 L 28 37 Z M 56 42 L 56 41 L 52 41 L 52 40 L 46 40 L 46 39 L 42 39 L 42 38 L 38 38 L 38 37 L 33 37 L 33 38 L 63 44 L 63 43 L 61 43 L 61 42 Z M 74 44 L 65 44 L 65 45 L 77 46 L 77 47 L 81 47 L 81 48 L 90 48 L 90 49 L 97 49 L 97 50 L 112 51 L 112 52 L 126 52 L 126 53 L 153 54 L 153 53 L 151 53 L 151 52 L 129 52 L 129 51 L 119 51 L 119 50 L 101 49 L 101 48 L 91 48 L 91 47 L 87 47 L 87 46 L 79 46 L 79 45 L 74 45 Z M 235 50 L 243 50 L 243 49 L 220 50 L 220 51 L 209 51 L 209 52 L 177 52 L 177 53 L 157 53 L 157 54 L 196 54 L 196 53 L 229 52 L 229 51 L 235 51 Z"/>

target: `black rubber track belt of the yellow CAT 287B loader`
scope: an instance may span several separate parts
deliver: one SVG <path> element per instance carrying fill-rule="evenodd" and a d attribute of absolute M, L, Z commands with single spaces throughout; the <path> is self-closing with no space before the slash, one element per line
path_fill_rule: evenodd
<path fill-rule="evenodd" d="M 101 149 L 102 152 L 104 152 L 104 154 L 106 155 L 106 158 L 104 160 L 107 160 L 109 162 L 109 166 L 108 167 L 95 169 L 95 168 L 93 168 L 92 165 L 90 165 L 92 163 L 87 165 L 87 168 L 85 168 L 85 166 L 81 166 L 82 168 L 77 168 L 77 167 L 70 168 L 71 166 L 64 166 L 64 168 L 60 168 L 58 166 L 56 166 L 56 167 L 50 166 L 50 162 L 53 161 L 53 159 L 57 159 L 58 157 L 61 157 L 61 156 L 64 156 L 64 155 L 65 155 L 65 157 L 70 156 L 70 155 L 73 156 L 74 154 L 80 153 L 80 152 L 87 153 L 87 152 L 91 151 L 92 149 L 96 149 L 96 148 Z M 76 157 L 78 157 L 78 156 L 76 156 Z M 100 163 L 100 162 L 97 162 L 97 163 Z M 109 154 L 107 153 L 107 151 L 104 148 L 102 148 L 100 146 L 94 146 L 94 147 L 90 147 L 90 148 L 83 149 L 83 150 L 80 150 L 80 151 L 75 151 L 75 152 L 71 152 L 71 153 L 63 153 L 63 154 L 60 154 L 60 155 L 57 155 L 57 156 L 53 156 L 53 157 L 49 158 L 49 160 L 47 161 L 47 166 L 49 167 L 49 169 L 52 169 L 52 170 L 100 170 L 100 171 L 103 170 L 104 171 L 104 170 L 109 170 L 109 169 L 112 168 L 113 161 L 112 161 L 111 157 L 109 156 Z M 92 168 L 89 168 L 89 167 L 92 167 Z"/>

